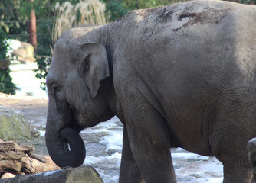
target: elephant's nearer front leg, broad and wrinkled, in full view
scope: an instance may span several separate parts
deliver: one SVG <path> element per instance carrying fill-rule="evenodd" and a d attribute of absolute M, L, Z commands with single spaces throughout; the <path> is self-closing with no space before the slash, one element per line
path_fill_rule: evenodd
<path fill-rule="evenodd" d="M 125 117 L 130 149 L 146 183 L 175 183 L 166 120 L 141 100 L 126 109 Z"/>

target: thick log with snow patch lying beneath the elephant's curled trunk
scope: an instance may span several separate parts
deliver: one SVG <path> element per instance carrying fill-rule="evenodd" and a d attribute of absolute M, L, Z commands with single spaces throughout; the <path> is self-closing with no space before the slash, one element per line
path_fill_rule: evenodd
<path fill-rule="evenodd" d="M 98 172 L 90 166 L 78 168 L 57 169 L 51 172 L 34 175 L 17 175 L 15 178 L 0 180 L 0 183 L 23 182 L 23 183 L 103 183 Z"/>

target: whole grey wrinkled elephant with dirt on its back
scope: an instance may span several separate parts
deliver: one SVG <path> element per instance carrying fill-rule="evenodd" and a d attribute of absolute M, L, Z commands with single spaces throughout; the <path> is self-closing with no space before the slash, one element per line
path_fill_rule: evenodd
<path fill-rule="evenodd" d="M 171 147 L 217 157 L 224 182 L 251 182 L 255 18 L 255 6 L 195 1 L 65 31 L 47 77 L 51 157 L 81 165 L 80 130 L 117 115 L 124 126 L 120 182 L 176 182 Z M 63 129 L 74 130 L 60 137 Z"/>

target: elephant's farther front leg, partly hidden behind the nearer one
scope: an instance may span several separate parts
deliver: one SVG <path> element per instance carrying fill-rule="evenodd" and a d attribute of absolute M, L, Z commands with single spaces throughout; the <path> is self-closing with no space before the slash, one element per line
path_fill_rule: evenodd
<path fill-rule="evenodd" d="M 133 153 L 130 149 L 130 143 L 127 136 L 126 126 L 123 127 L 123 151 L 120 168 L 120 183 L 141 183 L 143 177 L 139 172 Z"/>

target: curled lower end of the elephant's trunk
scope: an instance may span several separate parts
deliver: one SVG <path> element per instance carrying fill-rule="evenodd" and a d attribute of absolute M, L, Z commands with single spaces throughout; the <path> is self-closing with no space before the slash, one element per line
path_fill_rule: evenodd
<path fill-rule="evenodd" d="M 51 159 L 61 168 L 82 165 L 85 159 L 85 147 L 79 133 L 66 127 L 58 134 L 49 128 L 46 125 L 45 142 Z"/>

